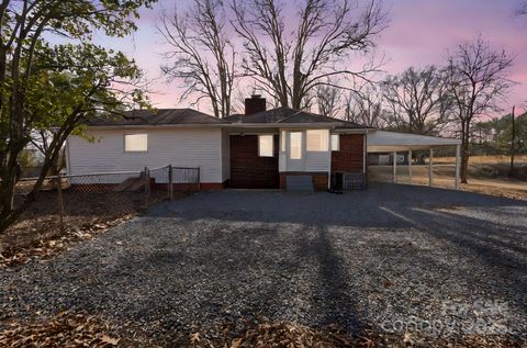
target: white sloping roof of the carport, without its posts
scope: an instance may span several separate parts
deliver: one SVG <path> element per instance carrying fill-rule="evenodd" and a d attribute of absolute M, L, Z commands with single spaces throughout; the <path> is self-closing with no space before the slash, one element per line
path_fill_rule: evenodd
<path fill-rule="evenodd" d="M 460 145 L 460 139 L 386 131 L 368 133 L 368 153 L 405 151 Z"/>

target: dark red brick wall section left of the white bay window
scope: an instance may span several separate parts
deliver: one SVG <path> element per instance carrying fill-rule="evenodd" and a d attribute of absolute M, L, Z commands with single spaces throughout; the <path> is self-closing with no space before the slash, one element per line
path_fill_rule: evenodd
<path fill-rule="evenodd" d="M 229 187 L 237 189 L 278 189 L 278 135 L 274 157 L 258 156 L 257 135 L 231 135 Z"/>

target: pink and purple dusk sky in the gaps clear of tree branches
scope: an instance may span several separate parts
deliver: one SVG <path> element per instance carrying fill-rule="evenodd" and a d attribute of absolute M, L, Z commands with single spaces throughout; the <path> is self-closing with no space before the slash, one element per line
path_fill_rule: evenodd
<path fill-rule="evenodd" d="M 377 41 L 377 52 L 385 56 L 386 74 L 399 74 L 410 66 L 441 65 L 456 45 L 481 34 L 493 48 L 505 49 L 515 58 L 511 79 L 518 82 L 503 108 L 527 108 L 527 15 L 515 10 L 523 0 L 384 0 L 390 23 Z M 186 108 L 180 101 L 181 82 L 166 83 L 159 66 L 167 46 L 156 29 L 161 9 L 182 8 L 189 0 L 160 0 L 154 10 L 142 11 L 138 31 L 125 38 L 96 37 L 105 46 L 134 58 L 155 79 L 150 96 L 156 108 Z M 202 106 L 206 111 L 205 106 Z"/>

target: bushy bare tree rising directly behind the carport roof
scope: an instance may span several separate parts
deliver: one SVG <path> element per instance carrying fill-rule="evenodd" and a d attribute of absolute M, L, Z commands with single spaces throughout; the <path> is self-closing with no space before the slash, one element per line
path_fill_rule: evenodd
<path fill-rule="evenodd" d="M 390 76 L 382 83 L 384 100 L 395 119 L 407 123 L 407 131 L 416 134 L 437 134 L 446 124 L 444 110 L 446 82 L 435 67 L 413 67 L 399 76 Z"/>

